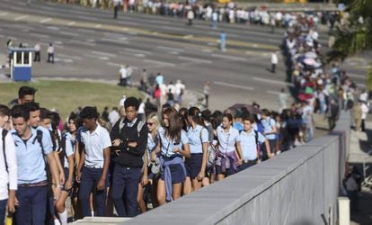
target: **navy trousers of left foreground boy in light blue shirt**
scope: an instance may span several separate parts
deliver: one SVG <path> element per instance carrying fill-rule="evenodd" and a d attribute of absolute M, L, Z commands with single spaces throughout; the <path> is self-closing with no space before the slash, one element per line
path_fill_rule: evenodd
<path fill-rule="evenodd" d="M 18 186 L 19 205 L 15 211 L 16 223 L 20 225 L 44 224 L 47 211 L 48 186 Z"/>

